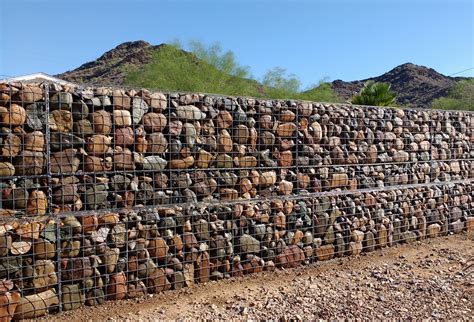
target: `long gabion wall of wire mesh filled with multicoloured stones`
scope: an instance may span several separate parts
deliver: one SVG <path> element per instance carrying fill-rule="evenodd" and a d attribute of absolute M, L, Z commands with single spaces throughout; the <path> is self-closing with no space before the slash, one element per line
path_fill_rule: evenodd
<path fill-rule="evenodd" d="M 474 229 L 474 114 L 0 84 L 0 320 Z"/>

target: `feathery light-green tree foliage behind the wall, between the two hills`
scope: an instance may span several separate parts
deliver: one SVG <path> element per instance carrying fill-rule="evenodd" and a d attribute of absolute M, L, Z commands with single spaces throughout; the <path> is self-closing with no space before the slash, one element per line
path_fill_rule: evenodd
<path fill-rule="evenodd" d="M 149 64 L 125 71 L 126 85 L 234 96 L 340 101 L 327 83 L 301 92 L 299 79 L 281 67 L 269 70 L 259 83 L 251 78 L 248 67 L 236 61 L 232 51 L 223 52 L 218 43 L 206 46 L 192 41 L 189 48 L 190 52 L 182 50 L 179 40 L 162 45 L 152 52 Z"/>

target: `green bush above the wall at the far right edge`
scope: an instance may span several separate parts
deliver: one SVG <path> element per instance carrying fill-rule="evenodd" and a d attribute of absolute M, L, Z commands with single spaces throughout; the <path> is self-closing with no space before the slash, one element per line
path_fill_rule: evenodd
<path fill-rule="evenodd" d="M 458 81 L 446 97 L 433 101 L 432 108 L 474 111 L 474 78 Z"/>

